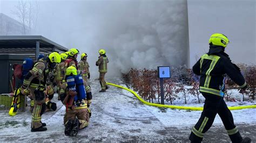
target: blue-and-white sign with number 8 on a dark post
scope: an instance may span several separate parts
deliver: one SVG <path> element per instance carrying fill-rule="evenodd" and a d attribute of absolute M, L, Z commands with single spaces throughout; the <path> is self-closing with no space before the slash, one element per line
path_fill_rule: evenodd
<path fill-rule="evenodd" d="M 160 79 L 160 95 L 161 95 L 161 104 L 164 104 L 164 78 L 170 78 L 171 72 L 170 67 L 168 66 L 159 66 L 157 67 L 158 77 Z"/>

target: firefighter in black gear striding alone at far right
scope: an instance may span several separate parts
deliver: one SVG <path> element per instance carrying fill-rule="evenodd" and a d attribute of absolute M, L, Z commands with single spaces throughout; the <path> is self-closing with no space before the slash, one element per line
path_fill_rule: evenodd
<path fill-rule="evenodd" d="M 212 126 L 215 116 L 220 116 L 232 142 L 250 142 L 250 138 L 242 139 L 238 128 L 234 125 L 232 113 L 223 99 L 225 75 L 227 74 L 241 90 L 247 84 L 240 69 L 234 65 L 224 52 L 229 40 L 224 34 L 215 33 L 209 39 L 210 49 L 201 56 L 193 66 L 193 72 L 200 75 L 199 91 L 205 97 L 204 110 L 190 134 L 191 142 L 201 142 L 206 131 Z"/>

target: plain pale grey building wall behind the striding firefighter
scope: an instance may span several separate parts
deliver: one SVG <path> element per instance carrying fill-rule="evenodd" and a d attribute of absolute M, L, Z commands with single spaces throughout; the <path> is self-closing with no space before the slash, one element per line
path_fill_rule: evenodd
<path fill-rule="evenodd" d="M 188 0 L 191 66 L 208 51 L 212 33 L 223 33 L 226 53 L 236 63 L 256 63 L 255 0 Z"/>

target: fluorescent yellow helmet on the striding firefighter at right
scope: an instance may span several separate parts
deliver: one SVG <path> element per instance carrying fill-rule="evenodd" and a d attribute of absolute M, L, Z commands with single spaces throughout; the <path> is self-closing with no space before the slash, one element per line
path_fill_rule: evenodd
<path fill-rule="evenodd" d="M 230 40 L 228 40 L 228 38 L 224 34 L 220 34 L 220 33 L 212 34 L 209 39 L 209 44 L 223 46 L 223 47 L 226 47 L 228 42 L 230 42 Z"/>

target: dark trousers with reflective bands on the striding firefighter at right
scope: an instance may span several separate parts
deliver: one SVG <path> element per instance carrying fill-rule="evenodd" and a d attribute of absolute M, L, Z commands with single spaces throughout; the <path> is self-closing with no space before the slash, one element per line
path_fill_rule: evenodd
<path fill-rule="evenodd" d="M 204 110 L 201 113 L 197 124 L 192 128 L 190 134 L 191 142 L 201 142 L 203 140 L 205 132 L 212 126 L 215 116 L 220 116 L 228 136 L 232 142 L 241 142 L 242 137 L 234 125 L 234 119 L 231 111 L 227 108 L 227 105 L 223 97 L 201 93 L 205 97 Z M 221 137 L 220 137 L 221 138 Z"/>

